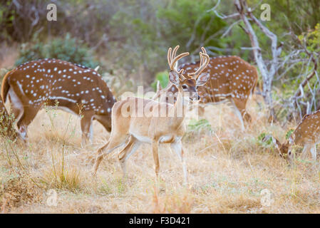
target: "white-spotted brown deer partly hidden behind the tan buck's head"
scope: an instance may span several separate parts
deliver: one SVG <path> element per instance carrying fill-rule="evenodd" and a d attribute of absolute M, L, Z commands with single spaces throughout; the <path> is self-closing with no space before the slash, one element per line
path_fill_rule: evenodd
<path fill-rule="evenodd" d="M 202 48 L 202 52 L 206 53 L 205 48 Z M 183 69 L 187 74 L 192 73 L 199 68 L 201 61 L 200 58 L 200 63 L 182 64 L 177 70 Z M 241 121 L 242 129 L 244 129 L 243 119 L 251 122 L 251 116 L 246 111 L 246 105 L 249 95 L 254 92 L 257 85 L 257 69 L 238 56 L 220 56 L 210 58 L 210 62 L 204 71 L 210 71 L 210 79 L 205 86 L 199 88 L 199 103 L 203 105 L 229 101 Z M 158 91 L 153 98 L 158 98 L 160 93 L 163 93 L 161 101 L 165 102 L 172 100 L 169 97 L 175 97 L 176 92 L 175 86 L 169 83 L 165 89 Z M 199 107 L 200 115 L 203 115 L 204 112 L 204 106 L 202 105 Z"/>

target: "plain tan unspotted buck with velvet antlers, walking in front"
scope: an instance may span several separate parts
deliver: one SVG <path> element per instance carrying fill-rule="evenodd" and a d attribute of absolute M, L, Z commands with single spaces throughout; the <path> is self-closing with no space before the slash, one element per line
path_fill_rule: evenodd
<path fill-rule="evenodd" d="M 143 98 L 127 98 L 115 103 L 112 109 L 112 131 L 110 139 L 97 152 L 96 162 L 93 167 L 93 175 L 96 175 L 98 165 L 103 159 L 103 153 L 108 154 L 115 148 L 123 145 L 128 138 L 125 147 L 118 153 L 123 173 L 125 175 L 125 161 L 138 149 L 141 142 L 148 142 L 153 147 L 153 159 L 155 161 L 155 174 L 159 173 L 159 155 L 158 144 L 170 143 L 182 162 L 184 172 L 184 182 L 187 182 L 187 169 L 183 158 L 183 149 L 181 138 L 185 133 L 185 111 L 187 105 L 192 99 L 197 99 L 197 86 L 203 86 L 210 74 L 202 73 L 209 63 L 209 56 L 200 52 L 200 56 L 205 59 L 200 68 L 194 73 L 194 77 L 185 78 L 183 70 L 177 71 L 175 63 L 189 53 L 181 53 L 175 56 L 177 52 L 176 46 L 172 51 L 169 48 L 167 52 L 167 61 L 170 66 L 169 80 L 177 87 L 177 101 L 174 105 L 170 103 L 160 103 L 151 99 Z M 172 52 L 171 52 L 172 51 Z M 184 99 L 185 92 L 192 93 L 192 96 Z M 140 105 L 139 105 L 140 103 Z M 145 115 L 144 111 L 150 111 L 150 115 Z M 160 110 L 165 110 L 164 115 L 159 115 Z M 125 115 L 124 115 L 125 111 Z M 143 115 L 139 116 L 139 112 Z M 163 113 L 162 113 L 163 114 Z"/>

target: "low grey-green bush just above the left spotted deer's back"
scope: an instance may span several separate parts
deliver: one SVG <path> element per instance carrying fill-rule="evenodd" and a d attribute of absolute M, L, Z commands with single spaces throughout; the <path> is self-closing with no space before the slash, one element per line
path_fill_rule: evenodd
<path fill-rule="evenodd" d="M 92 57 L 90 49 L 68 33 L 64 38 L 54 38 L 51 42 L 42 42 L 35 37 L 33 42 L 23 43 L 16 65 L 38 58 L 58 58 L 89 68 L 100 66 L 100 63 Z"/>

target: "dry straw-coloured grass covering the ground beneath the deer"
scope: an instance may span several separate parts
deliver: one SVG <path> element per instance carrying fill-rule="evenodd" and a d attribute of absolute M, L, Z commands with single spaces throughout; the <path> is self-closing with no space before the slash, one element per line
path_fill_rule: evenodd
<path fill-rule="evenodd" d="M 187 186 L 168 145 L 160 146 L 158 184 L 150 145 L 130 157 L 125 180 L 115 155 L 105 157 L 93 178 L 96 149 L 109 134 L 95 123 L 93 144 L 81 147 L 78 118 L 42 110 L 29 127 L 28 145 L 1 140 L 0 212 L 319 213 L 319 167 L 297 162 L 289 169 L 281 157 L 259 145 L 261 133 L 284 140 L 287 129 L 267 123 L 255 99 L 248 107 L 253 122 L 244 132 L 231 110 L 217 105 L 205 115 L 213 132 L 185 136 Z M 51 189 L 57 192 L 56 206 L 47 204 Z M 262 205 L 264 189 L 271 193 L 270 206 Z"/>

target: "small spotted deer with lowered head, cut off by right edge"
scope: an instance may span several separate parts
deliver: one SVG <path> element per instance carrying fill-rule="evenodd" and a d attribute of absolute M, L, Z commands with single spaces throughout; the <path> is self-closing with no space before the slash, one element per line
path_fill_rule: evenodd
<path fill-rule="evenodd" d="M 304 147 L 302 157 L 306 157 L 306 152 L 310 151 L 313 160 L 316 161 L 316 144 L 320 142 L 320 110 L 309 115 L 304 115 L 304 118 L 302 118 L 287 142 L 282 144 L 277 138 L 270 135 L 263 140 L 267 140 L 269 137 L 272 137 L 272 141 L 277 147 L 279 154 L 282 157 L 287 157 L 290 165 L 294 161 L 294 152 L 291 151 L 293 145 Z"/>

